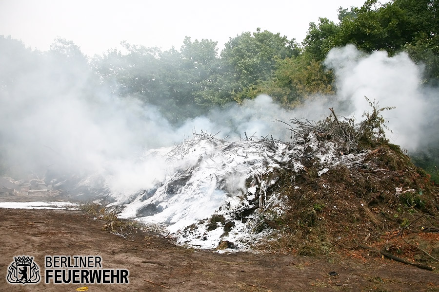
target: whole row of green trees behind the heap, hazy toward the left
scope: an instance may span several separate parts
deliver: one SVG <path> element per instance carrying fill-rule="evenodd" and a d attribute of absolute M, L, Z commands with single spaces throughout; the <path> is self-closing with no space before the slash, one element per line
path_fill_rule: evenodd
<path fill-rule="evenodd" d="M 334 93 L 333 73 L 322 62 L 330 49 L 346 44 L 367 53 L 406 51 L 425 64 L 425 82 L 437 82 L 438 20 L 437 0 L 367 0 L 360 8 L 339 8 L 338 23 L 310 23 L 301 44 L 258 28 L 231 37 L 220 53 L 216 41 L 186 37 L 180 50 L 164 52 L 124 43 L 127 54 L 107 52 L 93 63 L 119 94 L 136 95 L 179 122 L 260 93 L 285 107 L 315 93 Z"/>

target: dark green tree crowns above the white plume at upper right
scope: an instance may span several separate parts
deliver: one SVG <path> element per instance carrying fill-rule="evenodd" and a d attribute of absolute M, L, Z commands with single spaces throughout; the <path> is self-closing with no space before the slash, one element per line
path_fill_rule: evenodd
<path fill-rule="evenodd" d="M 407 51 L 426 65 L 426 78 L 439 77 L 439 22 L 437 0 L 367 0 L 360 8 L 339 8 L 339 23 L 327 18 L 311 22 L 303 51 L 323 60 L 330 49 L 354 44 L 360 50 Z"/>

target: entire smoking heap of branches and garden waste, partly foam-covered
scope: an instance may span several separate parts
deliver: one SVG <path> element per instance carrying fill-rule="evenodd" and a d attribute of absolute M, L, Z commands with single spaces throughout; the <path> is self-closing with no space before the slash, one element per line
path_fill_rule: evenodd
<path fill-rule="evenodd" d="M 194 134 L 144 154 L 139 164 L 161 161 L 164 173 L 138 192 L 111 192 L 99 176 L 75 186 L 79 195 L 111 199 L 108 206 L 121 218 L 159 226 L 178 244 L 203 249 L 317 255 L 382 236 L 389 244 L 401 231 L 439 232 L 437 187 L 388 143 L 382 124 L 373 123 L 377 117 L 374 110 L 357 125 L 294 119 L 292 142 Z M 432 248 L 439 253 L 439 245 Z"/>

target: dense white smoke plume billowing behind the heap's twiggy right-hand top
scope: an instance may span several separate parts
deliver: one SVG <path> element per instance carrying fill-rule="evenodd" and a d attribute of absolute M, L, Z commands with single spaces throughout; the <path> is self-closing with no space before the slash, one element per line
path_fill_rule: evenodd
<path fill-rule="evenodd" d="M 325 64 L 334 70 L 337 97 L 351 104 L 351 114 L 360 119 L 364 110 L 370 110 L 365 96 L 380 107 L 396 107 L 383 112 L 393 131 L 388 133 L 391 142 L 408 150 L 417 148 L 427 103 L 421 89 L 422 69 L 406 53 L 364 55 L 348 45 L 332 49 Z"/>

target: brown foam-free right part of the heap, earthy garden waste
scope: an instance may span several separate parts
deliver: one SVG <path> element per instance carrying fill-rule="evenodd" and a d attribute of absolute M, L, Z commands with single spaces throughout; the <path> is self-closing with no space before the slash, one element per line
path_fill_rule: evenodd
<path fill-rule="evenodd" d="M 294 179 L 282 176 L 290 209 L 278 222 L 281 236 L 259 248 L 315 256 L 363 258 L 371 246 L 438 267 L 439 191 L 398 146 L 381 144 L 350 168 L 317 174 L 308 164 Z M 374 252 L 373 254 L 378 254 Z"/>

